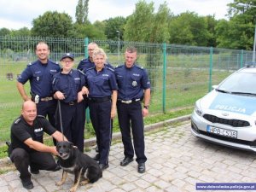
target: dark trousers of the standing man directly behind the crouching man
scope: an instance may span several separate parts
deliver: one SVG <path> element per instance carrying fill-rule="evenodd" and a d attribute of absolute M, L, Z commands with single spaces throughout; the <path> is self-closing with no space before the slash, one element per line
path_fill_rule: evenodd
<path fill-rule="evenodd" d="M 39 115 L 48 117 L 49 123 L 55 127 L 55 111 L 57 107 L 56 100 L 50 100 L 48 102 L 38 102 L 37 111 Z"/>

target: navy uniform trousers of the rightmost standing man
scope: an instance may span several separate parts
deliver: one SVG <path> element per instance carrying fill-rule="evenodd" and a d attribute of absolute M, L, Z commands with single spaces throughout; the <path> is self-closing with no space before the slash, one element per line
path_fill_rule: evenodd
<path fill-rule="evenodd" d="M 122 142 L 125 148 L 125 157 L 133 158 L 135 151 L 137 163 L 146 162 L 147 157 L 145 156 L 144 124 L 141 102 L 131 102 L 129 104 L 118 102 L 117 110 Z M 134 149 L 131 143 L 131 131 Z"/>

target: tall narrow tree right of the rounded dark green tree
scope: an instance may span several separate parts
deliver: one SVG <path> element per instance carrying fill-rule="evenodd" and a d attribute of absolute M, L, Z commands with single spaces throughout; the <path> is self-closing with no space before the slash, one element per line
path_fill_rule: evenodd
<path fill-rule="evenodd" d="M 76 7 L 76 22 L 84 24 L 88 18 L 88 3 L 89 0 L 79 0 Z"/>

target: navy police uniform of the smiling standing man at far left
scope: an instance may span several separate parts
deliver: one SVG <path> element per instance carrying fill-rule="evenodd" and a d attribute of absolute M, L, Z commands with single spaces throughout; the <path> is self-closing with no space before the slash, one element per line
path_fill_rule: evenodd
<path fill-rule="evenodd" d="M 48 60 L 47 64 L 34 61 L 27 65 L 26 69 L 18 77 L 21 84 L 29 80 L 31 86 L 32 100 L 39 96 L 37 103 L 38 115 L 48 116 L 49 123 L 55 126 L 55 109 L 57 102 L 53 98 L 51 82 L 53 75 L 60 72 L 61 67 L 54 61 Z"/>

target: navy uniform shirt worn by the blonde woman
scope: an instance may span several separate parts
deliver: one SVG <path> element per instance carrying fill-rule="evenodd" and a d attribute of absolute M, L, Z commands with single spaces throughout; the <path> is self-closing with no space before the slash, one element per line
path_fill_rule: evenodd
<path fill-rule="evenodd" d="M 100 72 L 92 67 L 86 71 L 85 78 L 89 97 L 112 96 L 112 91 L 118 90 L 113 69 L 110 67 L 105 66 Z"/>

